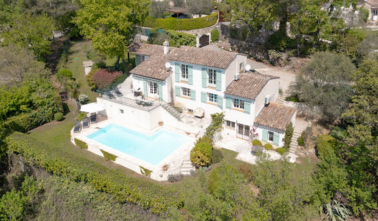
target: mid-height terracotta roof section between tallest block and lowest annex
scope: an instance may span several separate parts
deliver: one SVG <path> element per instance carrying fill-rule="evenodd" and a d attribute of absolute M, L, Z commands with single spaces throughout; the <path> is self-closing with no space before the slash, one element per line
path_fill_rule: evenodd
<path fill-rule="evenodd" d="M 271 79 L 277 78 L 279 77 L 258 72 L 240 73 L 239 80 L 233 80 L 226 88 L 225 94 L 256 99 L 266 83 Z"/>

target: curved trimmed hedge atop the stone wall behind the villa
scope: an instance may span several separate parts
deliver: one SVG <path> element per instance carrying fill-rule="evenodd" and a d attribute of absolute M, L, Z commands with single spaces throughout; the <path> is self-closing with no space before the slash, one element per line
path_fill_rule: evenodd
<path fill-rule="evenodd" d="M 192 30 L 212 26 L 217 22 L 217 19 L 218 13 L 196 19 L 155 19 L 147 17 L 143 26 L 167 30 Z"/>

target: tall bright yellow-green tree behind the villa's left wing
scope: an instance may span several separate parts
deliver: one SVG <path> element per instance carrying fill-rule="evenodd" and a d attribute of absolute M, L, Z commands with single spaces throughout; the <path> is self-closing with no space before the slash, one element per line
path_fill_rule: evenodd
<path fill-rule="evenodd" d="M 127 46 L 149 12 L 148 0 L 81 0 L 74 22 L 93 48 L 108 58 L 124 59 Z"/>

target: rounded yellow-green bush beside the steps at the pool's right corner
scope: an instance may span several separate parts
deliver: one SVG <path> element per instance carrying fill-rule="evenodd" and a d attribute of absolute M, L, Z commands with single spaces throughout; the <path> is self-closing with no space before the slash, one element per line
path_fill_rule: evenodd
<path fill-rule="evenodd" d="M 190 151 L 190 160 L 197 168 L 211 164 L 212 147 L 206 142 L 197 142 Z"/>

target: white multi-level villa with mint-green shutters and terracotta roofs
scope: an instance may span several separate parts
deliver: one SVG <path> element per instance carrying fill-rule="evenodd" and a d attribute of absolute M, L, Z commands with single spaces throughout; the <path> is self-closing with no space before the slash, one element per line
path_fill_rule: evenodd
<path fill-rule="evenodd" d="M 282 146 L 295 108 L 274 104 L 279 77 L 245 70 L 246 55 L 206 48 L 132 44 L 136 67 L 130 71 L 134 91 L 144 97 L 174 102 L 184 112 L 225 113 L 224 133 L 249 139 L 253 131 L 262 141 Z M 169 64 L 169 68 L 166 65 Z M 156 125 L 157 126 L 157 125 Z"/>

